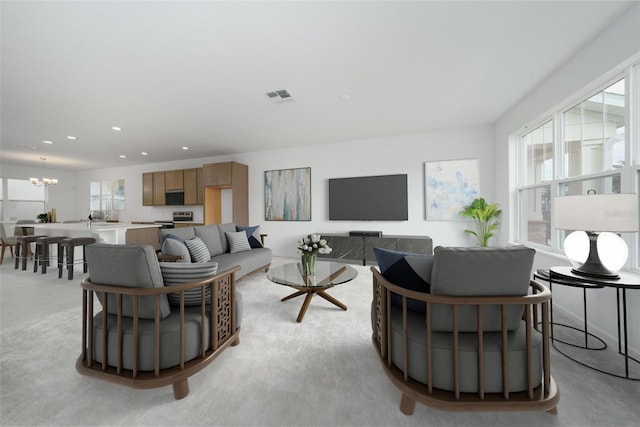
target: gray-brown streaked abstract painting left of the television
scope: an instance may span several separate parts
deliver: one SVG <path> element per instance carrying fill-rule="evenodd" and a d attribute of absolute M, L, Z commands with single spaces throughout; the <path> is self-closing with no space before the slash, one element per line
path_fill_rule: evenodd
<path fill-rule="evenodd" d="M 265 171 L 264 219 L 311 221 L 311 168 Z"/>

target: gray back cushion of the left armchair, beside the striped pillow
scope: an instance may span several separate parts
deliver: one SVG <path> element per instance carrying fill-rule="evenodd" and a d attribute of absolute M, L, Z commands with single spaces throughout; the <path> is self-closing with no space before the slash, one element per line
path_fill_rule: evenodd
<path fill-rule="evenodd" d="M 93 283 L 128 288 L 162 288 L 162 272 L 151 245 L 109 245 L 94 243 L 85 248 L 89 277 Z M 98 292 L 103 303 L 103 294 Z M 142 319 L 155 318 L 155 297 L 140 297 L 138 314 Z M 123 315 L 133 316 L 133 298 L 123 298 Z M 117 313 L 117 297 L 109 294 L 109 313 Z M 171 314 L 166 295 L 160 295 L 160 318 Z"/>

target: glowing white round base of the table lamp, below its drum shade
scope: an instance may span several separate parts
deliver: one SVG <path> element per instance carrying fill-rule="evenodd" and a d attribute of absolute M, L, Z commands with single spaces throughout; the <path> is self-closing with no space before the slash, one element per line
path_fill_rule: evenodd
<path fill-rule="evenodd" d="M 589 248 L 589 236 L 584 231 L 574 231 L 564 240 L 564 252 L 574 268 L 587 261 Z M 620 271 L 629 257 L 627 244 L 615 233 L 599 233 L 597 248 L 602 265 L 612 273 Z"/>

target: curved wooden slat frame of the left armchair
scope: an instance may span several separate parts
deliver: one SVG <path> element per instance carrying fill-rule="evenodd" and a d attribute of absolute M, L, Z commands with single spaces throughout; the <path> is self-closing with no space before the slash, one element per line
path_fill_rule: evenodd
<path fill-rule="evenodd" d="M 235 272 L 240 269 L 235 266 L 206 279 L 184 283 L 163 288 L 129 288 L 120 286 L 102 285 L 92 283 L 90 278 L 82 281 L 82 353 L 76 362 L 76 370 L 82 375 L 98 378 L 113 383 L 140 389 L 173 386 L 173 394 L 176 399 L 182 399 L 189 394 L 188 378 L 209 365 L 222 351 L 230 345 L 235 346 L 240 343 L 240 328 L 236 327 L 236 301 L 235 301 Z M 200 355 L 190 361 L 185 361 L 185 292 L 191 289 L 200 288 L 201 304 L 200 318 L 202 324 L 205 322 L 207 308 L 209 314 L 209 347 L 205 348 L 205 328 L 201 328 L 201 349 Z M 206 302 L 205 290 L 210 289 L 211 299 Z M 108 316 L 102 316 L 102 334 L 94 336 L 94 295 L 96 292 L 103 292 L 103 312 L 108 312 L 108 294 L 117 296 L 117 366 L 107 365 L 108 354 Z M 168 293 L 180 293 L 179 307 L 173 307 L 174 311 L 179 310 L 180 316 L 180 363 L 178 366 L 160 369 L 160 296 Z M 133 369 L 124 369 L 123 361 L 123 297 L 133 298 Z M 154 370 L 140 371 L 138 365 L 138 328 L 139 328 L 139 298 L 142 296 L 155 297 L 155 348 L 154 348 Z M 223 296 L 229 301 L 224 304 L 227 307 L 220 307 L 219 298 Z M 177 314 L 177 313 L 176 313 Z M 173 315 L 173 314 L 172 314 Z M 96 362 L 93 358 L 93 342 L 102 340 L 102 362 Z"/>

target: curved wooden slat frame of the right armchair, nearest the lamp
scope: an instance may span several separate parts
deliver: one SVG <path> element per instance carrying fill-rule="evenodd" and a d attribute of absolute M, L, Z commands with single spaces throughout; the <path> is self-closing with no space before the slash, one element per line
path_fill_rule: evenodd
<path fill-rule="evenodd" d="M 373 272 L 373 345 L 382 362 L 384 371 L 392 384 L 402 392 L 400 410 L 411 415 L 415 409 L 415 402 L 449 411 L 547 411 L 557 413 L 559 400 L 558 386 L 551 376 L 550 363 L 550 334 L 549 334 L 549 302 L 551 291 L 540 283 L 531 280 L 531 293 L 525 296 L 509 297 L 476 297 L 476 296 L 444 296 L 415 292 L 394 285 L 386 280 L 382 274 L 371 267 Z M 395 366 L 391 358 L 392 332 L 391 332 L 391 294 L 397 294 L 402 301 L 402 329 L 403 329 L 403 367 Z M 414 299 L 426 303 L 426 343 L 427 357 L 424 361 L 427 369 L 427 384 L 418 382 L 408 376 L 408 320 L 407 300 Z M 452 306 L 453 322 L 453 357 L 454 357 L 454 390 L 437 389 L 432 384 L 432 304 L 447 304 Z M 458 346 L 458 307 L 473 305 L 477 307 L 478 330 L 483 330 L 483 311 L 486 305 L 500 305 L 502 320 L 502 393 L 485 393 L 483 390 L 483 334 L 478 333 L 478 392 L 460 392 L 460 365 Z M 508 387 L 508 351 L 507 351 L 507 325 L 506 307 L 509 305 L 524 306 L 523 319 L 526 327 L 526 352 L 527 352 L 527 380 L 528 390 L 510 392 Z M 395 310 L 400 307 L 394 307 Z M 541 319 L 539 319 L 539 316 Z M 533 330 L 542 334 L 542 383 L 534 387 L 532 368 L 532 342 Z"/>

